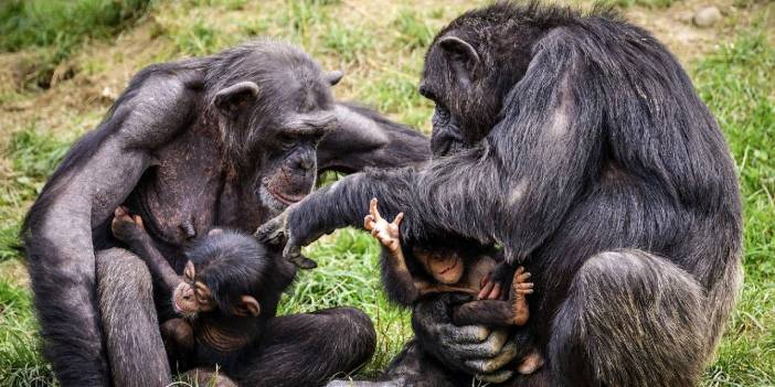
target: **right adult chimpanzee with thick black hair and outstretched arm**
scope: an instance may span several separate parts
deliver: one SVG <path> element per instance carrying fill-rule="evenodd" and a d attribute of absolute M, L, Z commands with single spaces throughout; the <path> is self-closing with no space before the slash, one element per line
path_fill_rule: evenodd
<path fill-rule="evenodd" d="M 528 329 L 514 332 L 548 362 L 510 385 L 697 384 L 741 282 L 741 204 L 719 126 L 667 49 L 607 11 L 499 3 L 440 31 L 420 93 L 436 104 L 434 149 L 452 154 L 348 176 L 263 232 L 285 219 L 293 258 L 362 225 L 378 197 L 386 216 L 406 213 L 407 246 L 457 233 L 534 275 Z M 422 375 L 425 352 L 500 378 L 512 354 L 500 338 L 471 344 L 482 332 L 449 325 L 447 300 L 415 309 L 421 346 L 392 375 L 446 385 Z"/>

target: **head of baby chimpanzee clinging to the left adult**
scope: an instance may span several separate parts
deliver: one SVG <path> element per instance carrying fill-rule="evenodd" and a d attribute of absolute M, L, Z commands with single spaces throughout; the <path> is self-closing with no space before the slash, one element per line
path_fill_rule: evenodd
<path fill-rule="evenodd" d="M 174 289 L 176 312 L 189 319 L 199 313 L 257 318 L 261 286 L 270 272 L 267 250 L 253 237 L 213 229 L 185 250 L 184 281 Z"/>

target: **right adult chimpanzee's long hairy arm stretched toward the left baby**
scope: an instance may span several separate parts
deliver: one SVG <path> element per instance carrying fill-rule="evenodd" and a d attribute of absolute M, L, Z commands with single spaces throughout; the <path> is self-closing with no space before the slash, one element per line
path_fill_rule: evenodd
<path fill-rule="evenodd" d="M 523 259 L 555 229 L 601 152 L 604 80 L 587 68 L 580 44 L 562 29 L 538 44 L 505 119 L 477 148 L 416 171 L 351 175 L 289 208 L 288 255 L 326 232 L 359 225 L 378 197 L 386 216 L 406 213 L 403 238 L 456 233 L 499 241 L 509 261 Z"/>

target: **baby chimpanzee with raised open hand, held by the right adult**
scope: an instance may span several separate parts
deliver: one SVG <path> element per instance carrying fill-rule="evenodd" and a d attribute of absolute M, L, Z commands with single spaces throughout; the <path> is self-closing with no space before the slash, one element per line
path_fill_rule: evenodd
<path fill-rule="evenodd" d="M 481 254 L 470 246 L 454 244 L 452 240 L 446 243 L 447 246 L 434 246 L 432 250 L 413 247 L 412 256 L 420 266 L 412 265 L 415 268 L 412 270 L 407 266 L 401 246 L 399 226 L 404 214 L 399 214 L 393 223 L 388 223 L 376 209 L 376 198 L 371 200 L 364 227 L 383 246 L 382 275 L 389 295 L 394 301 L 411 305 L 425 294 L 438 292 L 463 292 L 478 298 L 492 291 L 493 281 L 489 281 L 488 277 L 497 266 L 502 266 L 498 268 L 499 270 L 511 270 L 502 259 L 497 261 L 490 257 L 496 254 Z M 525 295 L 533 292 L 533 283 L 527 281 L 529 278 L 530 273 L 524 268 L 518 268 L 511 281 L 508 300 L 498 300 L 496 294 L 495 300 L 476 299 L 461 303 L 453 310 L 453 322 L 456 325 L 524 325 L 529 316 Z M 482 289 L 487 282 L 489 288 Z M 495 292 L 499 290 L 496 289 Z M 532 374 L 542 365 L 541 354 L 535 348 L 531 348 L 528 356 L 518 365 L 517 370 L 520 374 Z"/>

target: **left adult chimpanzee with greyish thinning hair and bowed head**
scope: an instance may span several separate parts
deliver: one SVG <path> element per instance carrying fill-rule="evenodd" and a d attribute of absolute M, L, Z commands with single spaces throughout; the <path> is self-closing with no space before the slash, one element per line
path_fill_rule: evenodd
<path fill-rule="evenodd" d="M 108 228 L 117 206 L 142 216 L 181 273 L 188 240 L 212 226 L 255 230 L 309 193 L 319 171 L 427 158 L 423 136 L 336 103 L 329 86 L 340 77 L 298 49 L 261 41 L 132 78 L 23 226 L 45 355 L 62 385 L 171 378 L 158 321 L 173 314 L 158 302 L 157 319 L 145 264 L 116 248 Z M 267 386 L 315 384 L 368 358 L 351 348 L 368 348 L 371 330 L 352 309 L 274 319 L 256 375 Z"/>

